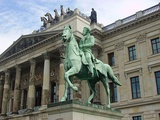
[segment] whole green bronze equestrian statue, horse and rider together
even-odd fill
[[[94,46],[94,36],[90,35],[90,28],[84,27],[83,37],[80,43],[74,37],[71,26],[65,26],[63,29],[62,40],[66,44],[66,54],[64,59],[64,79],[65,79],[65,91],[61,101],[67,99],[68,87],[71,87],[74,91],[78,91],[78,88],[73,85],[73,77],[77,77],[80,80],[87,80],[88,86],[92,91],[92,94],[88,98],[88,103],[96,94],[95,84],[99,81],[102,82],[106,94],[107,94],[107,107],[110,108],[110,90],[108,82],[111,80],[116,85],[121,86],[114,75],[112,68],[96,59],[92,54],[92,47]]]

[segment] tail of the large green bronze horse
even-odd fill
[[[107,76],[108,78],[115,83],[116,85],[121,86],[121,83],[119,82],[119,80],[117,79],[117,77],[114,75],[112,68],[108,65],[105,64],[106,68],[107,68]]]

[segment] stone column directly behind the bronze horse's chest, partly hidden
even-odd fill
[[[59,101],[61,100],[61,98],[63,97],[63,93],[64,93],[64,90],[65,90],[65,80],[64,80],[64,73],[65,73],[65,70],[64,70],[64,49],[63,48],[60,48],[60,64],[59,64]]]

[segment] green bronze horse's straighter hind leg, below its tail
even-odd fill
[[[110,89],[109,89],[109,85],[108,85],[108,82],[106,80],[106,78],[103,78],[101,80],[105,90],[106,90],[106,94],[107,94],[107,107],[110,108]]]

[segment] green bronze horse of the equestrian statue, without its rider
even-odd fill
[[[94,76],[90,76],[88,74],[87,65],[82,62],[84,54],[80,51],[70,26],[64,27],[62,40],[66,43],[66,54],[64,60],[64,79],[66,83],[64,95],[61,101],[65,101],[67,99],[68,87],[71,87],[74,91],[78,91],[78,88],[72,84],[73,77],[76,76],[80,80],[87,80],[88,82],[88,86],[92,91],[92,94],[88,98],[88,103],[91,103],[91,100],[96,94],[95,84],[101,81],[107,94],[107,107],[110,108],[110,90],[108,82],[111,80],[116,85],[121,86],[121,83],[115,77],[111,67],[96,59]]]

